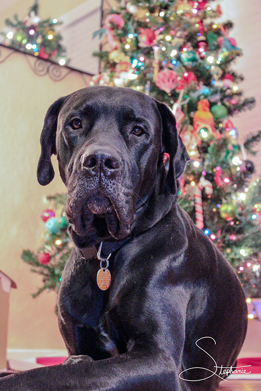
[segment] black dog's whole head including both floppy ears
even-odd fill
[[[53,179],[56,154],[68,188],[71,236],[79,247],[128,236],[137,204],[159,181],[175,195],[189,160],[166,105],[120,87],[87,87],[54,102],[41,147],[38,181],[47,185]],[[170,156],[167,173],[164,152]]]

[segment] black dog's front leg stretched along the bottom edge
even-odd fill
[[[99,361],[72,356],[65,364],[0,379],[0,391],[181,391],[179,370],[164,351],[132,351]]]

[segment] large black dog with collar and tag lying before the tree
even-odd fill
[[[188,154],[170,110],[129,88],[84,88],[48,109],[41,146],[38,180],[52,180],[57,154],[76,245],[59,292],[70,357],[4,377],[0,390],[216,390],[243,343],[246,304],[176,203]]]

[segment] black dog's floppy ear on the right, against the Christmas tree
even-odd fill
[[[156,101],[162,120],[162,144],[163,152],[169,154],[169,169],[166,176],[166,188],[170,194],[176,194],[176,181],[183,173],[190,156],[186,151],[177,131],[177,123],[174,115],[168,107]]]

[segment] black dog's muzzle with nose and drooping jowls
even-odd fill
[[[67,215],[73,230],[85,236],[94,228],[94,217],[104,217],[115,239],[129,234],[135,201],[125,162],[112,146],[91,144],[78,158],[78,169],[68,186]]]

